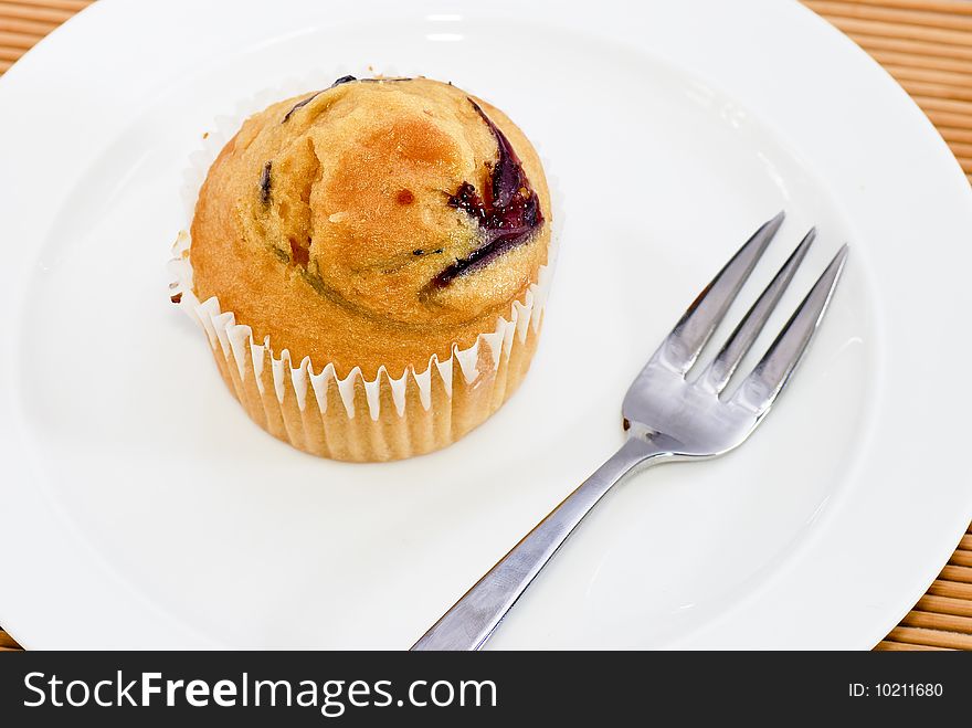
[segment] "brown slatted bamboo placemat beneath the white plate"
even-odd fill
[[[0,0],[0,74],[88,4],[91,0]],[[854,39],[898,80],[972,181],[972,2],[804,0],[804,4]],[[19,648],[0,630],[0,652]],[[972,526],[925,597],[875,648],[972,650]]]

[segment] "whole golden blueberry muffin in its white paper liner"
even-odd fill
[[[452,84],[345,76],[225,144],[173,298],[270,433],[337,460],[409,457],[522,380],[551,219],[537,152],[503,112]]]

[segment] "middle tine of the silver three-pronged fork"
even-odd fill
[[[721,392],[726,388],[742,357],[752,348],[760,331],[767,325],[767,320],[780,302],[780,296],[786,291],[815,238],[816,228],[811,228],[699,378],[702,387],[714,392]]]

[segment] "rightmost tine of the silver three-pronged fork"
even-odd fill
[[[770,345],[760,360],[740,384],[732,400],[758,413],[764,413],[786,387],[810,340],[823,320],[827,304],[834,295],[841,273],[847,261],[847,245],[841,247],[826,271],[806,294],[806,298]]]

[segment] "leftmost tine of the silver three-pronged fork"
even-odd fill
[[[656,357],[682,373],[687,372],[712,331],[726,316],[742,284],[783,223],[784,212],[764,222],[712,278],[662,344]]]

